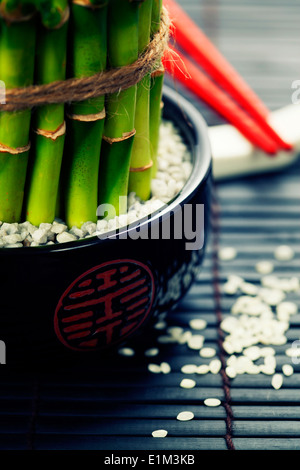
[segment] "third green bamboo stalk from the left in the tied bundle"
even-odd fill
[[[73,0],[70,18],[70,76],[106,68],[107,1]],[[104,127],[104,97],[73,103],[68,113],[62,191],[67,224],[96,221],[99,160]]]

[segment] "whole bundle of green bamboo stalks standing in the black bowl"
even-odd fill
[[[161,9],[162,0],[0,0],[0,80],[10,90],[133,64]],[[163,76],[158,63],[115,94],[20,111],[0,104],[0,220],[80,227],[100,204],[125,212],[129,192],[148,199]]]

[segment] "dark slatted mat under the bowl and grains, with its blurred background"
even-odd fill
[[[212,38],[271,109],[290,104],[291,82],[300,73],[300,5],[298,0],[181,0],[179,2]],[[171,83],[171,80],[168,80]],[[215,113],[181,90],[203,112],[209,124]],[[257,260],[273,260],[279,244],[296,257],[277,274],[300,276],[300,166],[282,174],[218,183],[214,230],[205,264],[180,307],[168,315],[168,326],[189,329],[189,320],[207,320],[205,345],[219,352],[218,321],[229,314],[232,299],[216,293],[230,274],[258,283]],[[216,247],[235,246],[237,258],[216,261]],[[299,294],[293,299],[300,307]],[[288,344],[299,339],[300,315],[293,317]],[[133,357],[110,355],[90,368],[22,379],[1,377],[0,449],[104,450],[283,450],[300,449],[300,366],[280,390],[271,377],[241,375],[224,389],[221,374],[188,376],[197,386],[180,388],[187,363],[207,363],[186,345],[160,344],[161,331],[130,344]],[[159,356],[144,350],[158,345]],[[277,346],[277,367],[288,362]],[[166,361],[170,374],[151,374],[149,362]],[[226,382],[227,383],[227,382]],[[227,399],[225,392],[227,393]],[[204,406],[205,398],[222,401]],[[231,401],[230,401],[231,400]],[[195,419],[179,422],[180,411]],[[151,432],[166,429],[165,439]],[[227,437],[226,437],[227,436]]]

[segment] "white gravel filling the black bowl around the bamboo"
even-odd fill
[[[45,246],[72,242],[126,227],[161,209],[184,187],[192,172],[191,154],[171,121],[163,121],[158,149],[158,171],[152,180],[151,199],[140,201],[134,193],[128,196],[128,212],[109,221],[87,221],[82,227],[68,228],[61,219],[52,224],[41,223],[39,227],[30,222],[6,223],[0,221],[0,248]]]

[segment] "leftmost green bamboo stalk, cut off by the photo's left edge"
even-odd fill
[[[33,84],[36,25],[34,11],[20,0],[0,3],[0,70],[6,89]],[[29,154],[30,110],[0,108],[0,220],[21,217]]]

